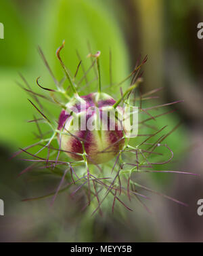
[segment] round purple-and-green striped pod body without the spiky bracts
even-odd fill
[[[81,153],[85,152],[89,163],[101,164],[122,150],[122,107],[114,108],[114,103],[114,98],[101,92],[76,96],[67,103],[58,122],[62,131],[58,141],[70,158],[83,160]]]

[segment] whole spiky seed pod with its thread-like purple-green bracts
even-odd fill
[[[131,201],[132,197],[136,198],[148,210],[145,204],[140,200],[140,198],[148,199],[148,196],[145,196],[142,191],[152,191],[154,193],[156,193],[156,191],[139,184],[139,182],[134,179],[135,177],[133,175],[137,175],[138,172],[177,172],[194,175],[191,172],[154,170],[154,166],[168,164],[168,162],[171,162],[173,159],[173,151],[166,143],[162,142],[175,131],[179,125],[175,126],[173,130],[166,134],[161,134],[166,126],[155,128],[154,131],[154,126],[148,125],[148,121],[156,120],[156,118],[167,115],[172,111],[156,115],[152,115],[150,111],[179,103],[181,100],[152,107],[143,107],[143,100],[151,100],[153,98],[151,94],[160,90],[155,89],[145,94],[139,92],[139,97],[134,93],[142,81],[139,71],[147,60],[147,56],[140,64],[139,61],[137,62],[135,69],[133,69],[130,75],[116,84],[118,88],[124,81],[132,77],[131,83],[125,92],[122,92],[122,88],[120,87],[121,96],[118,100],[115,100],[109,94],[101,92],[101,75],[99,68],[100,52],[89,54],[89,56],[94,59],[91,68],[95,63],[97,64],[98,90],[88,95],[80,95],[77,92],[75,81],[81,61],[78,64],[74,77],[71,77],[60,57],[62,48],[64,48],[64,43],[56,52],[66,75],[62,81],[55,79],[43,52],[39,48],[39,52],[56,86],[55,90],[45,88],[39,84],[39,78],[37,79],[37,85],[41,89],[48,91],[49,98],[47,95],[45,96],[33,92],[30,86],[28,86],[27,81],[22,77],[28,87],[24,88],[22,86],[22,88],[37,102],[38,106],[29,100],[41,117],[35,117],[34,120],[30,120],[30,122],[37,124],[39,130],[37,139],[39,139],[39,141],[24,149],[20,149],[20,151],[15,154],[15,156],[17,156],[24,152],[33,158],[24,159],[27,162],[33,163],[31,166],[22,170],[21,174],[40,165],[40,168],[47,170],[47,172],[51,171],[52,174],[57,174],[57,177],[62,176],[55,193],[41,197],[46,198],[47,196],[53,195],[51,202],[54,202],[59,192],[69,189],[70,185],[78,185],[71,195],[75,195],[77,191],[84,188],[85,194],[87,195],[87,204],[85,207],[91,202],[96,204],[93,213],[98,210],[99,213],[101,213],[101,204],[108,195],[112,196],[112,211],[114,211],[115,202],[119,202],[128,210],[133,211],[127,206],[125,196],[129,198],[129,201]],[[84,77],[85,75],[87,75],[87,71],[84,72]],[[68,88],[70,87],[72,90],[70,94],[67,93],[67,88],[64,88],[63,81],[65,80],[68,81]],[[59,117],[57,117],[58,122],[55,121],[53,116],[47,117],[49,111],[44,112],[39,98],[49,100],[49,102],[51,101],[51,103],[61,107]],[[61,100],[61,98],[63,98],[63,100]],[[136,107],[135,103],[137,101],[139,107]],[[40,129],[41,123],[45,123],[51,130],[43,134]],[[146,134],[142,133],[145,127],[152,128],[151,132],[147,132]],[[137,132],[140,130],[141,133],[139,133],[139,137],[137,137]],[[51,134],[51,136],[47,134]],[[157,136],[159,137],[157,138]],[[144,139],[141,141],[140,138],[143,137]],[[154,139],[154,141],[152,139]],[[55,141],[58,141],[58,147],[55,145]],[[37,152],[31,153],[29,151],[39,146],[41,146],[41,148],[38,149]],[[165,155],[163,151],[158,151],[158,149],[163,148],[168,151],[166,159],[164,160]],[[47,155],[39,156],[39,154],[43,153],[45,150],[47,150]],[[154,161],[153,156],[156,156],[156,159],[159,158],[159,160],[157,162]],[[68,181],[68,185],[61,188],[65,180]],[[101,192],[104,189],[106,189],[105,194]],[[141,193],[138,189],[141,190]],[[162,196],[185,205],[183,202],[165,196],[164,194],[162,194]]]

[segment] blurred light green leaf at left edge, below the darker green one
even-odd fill
[[[29,73],[26,70],[29,77]],[[0,100],[0,141],[11,147],[22,147],[32,143],[32,132],[35,125],[29,125],[26,120],[32,118],[33,109],[28,104],[28,96],[17,86],[20,80],[17,71],[4,69],[0,72],[1,100]],[[26,77],[26,78],[28,78]]]

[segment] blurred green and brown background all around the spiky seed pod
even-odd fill
[[[203,216],[197,214],[197,201],[203,198],[203,39],[197,37],[197,25],[203,22],[202,0],[0,0],[0,7],[5,28],[5,39],[0,40],[0,198],[5,202],[0,241],[202,242]],[[52,207],[49,200],[22,202],[53,191],[58,179],[35,172],[18,177],[26,164],[9,160],[18,147],[35,142],[35,125],[26,122],[35,111],[16,85],[21,81],[18,72],[33,88],[39,76],[43,86],[51,88],[53,81],[37,45],[61,79],[55,50],[63,39],[63,58],[72,73],[78,64],[76,50],[84,68],[89,65],[90,47],[93,52],[100,50],[102,83],[108,90],[110,49],[114,82],[133,69],[139,54],[148,54],[141,91],[163,88],[151,104],[184,100],[175,106],[175,113],[157,122],[173,128],[182,121],[167,140],[175,153],[169,168],[200,176],[154,174],[142,180],[188,207],[152,196],[148,202],[152,214],[131,202],[132,213],[90,217],[81,212],[80,198],[73,200],[68,193],[59,195]],[[85,88],[86,94],[95,90],[94,83]],[[49,111],[56,116],[60,113],[51,105]]]

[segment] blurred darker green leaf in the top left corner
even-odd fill
[[[4,39],[0,41],[0,67],[27,65],[30,38],[26,22],[14,1],[0,0],[0,6],[0,22],[4,25]]]

